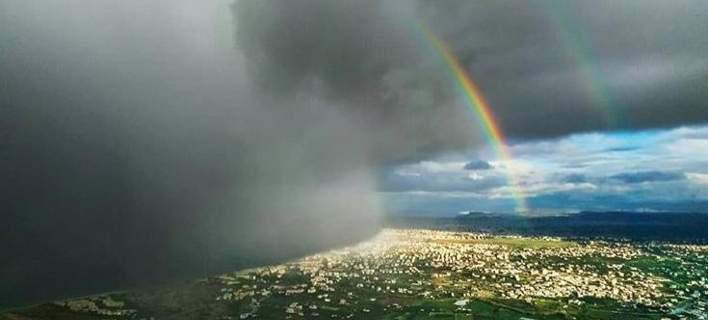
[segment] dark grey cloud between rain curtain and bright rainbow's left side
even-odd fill
[[[314,97],[340,110],[369,138],[377,162],[479,141],[466,111],[450,100],[445,70],[431,63],[416,34],[414,9],[412,2],[370,0],[233,6],[238,45],[263,94]]]

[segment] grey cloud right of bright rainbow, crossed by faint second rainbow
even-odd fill
[[[703,1],[430,1],[516,138],[708,120]]]

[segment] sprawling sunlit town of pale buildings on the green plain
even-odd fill
[[[657,250],[671,256],[657,255]],[[462,314],[473,314],[467,305],[477,300],[519,313],[525,308],[546,315],[593,311],[601,318],[603,312],[617,310],[650,316],[682,308],[686,316],[704,318],[707,251],[700,246],[581,244],[549,237],[389,229],[356,247],[224,275],[219,278],[224,294],[217,299],[252,301],[241,318],[257,316],[267,301],[263,298],[270,295],[292,297],[282,309],[286,318],[317,317],[325,313],[318,311],[322,309],[330,311],[328,318],[360,317],[377,308],[382,314],[400,313],[405,303],[415,305],[421,299],[448,301],[455,306],[453,313]],[[686,283],[672,281],[678,277]],[[297,278],[301,281],[293,281]],[[617,310],[607,309],[608,304]],[[339,309],[351,313],[334,312]],[[420,310],[435,314],[447,309]]]

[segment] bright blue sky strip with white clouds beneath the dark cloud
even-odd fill
[[[575,134],[511,151],[512,160],[481,148],[387,168],[380,188],[402,215],[708,210],[708,126]],[[509,174],[529,212],[516,212]]]

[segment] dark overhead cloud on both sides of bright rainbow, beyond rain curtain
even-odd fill
[[[450,115],[441,106],[459,102],[421,23],[460,57],[512,138],[708,121],[703,1],[267,0],[234,8],[251,73],[266,87],[315,87],[377,119],[395,115],[414,123],[432,151],[457,143],[430,137],[464,126],[447,118],[435,135],[414,116]]]

